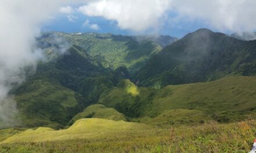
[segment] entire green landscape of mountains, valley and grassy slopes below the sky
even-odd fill
[[[201,29],[169,43],[43,34],[47,62],[33,75],[28,67],[27,81],[10,92],[20,128],[0,130],[0,152],[249,151],[255,41]]]

